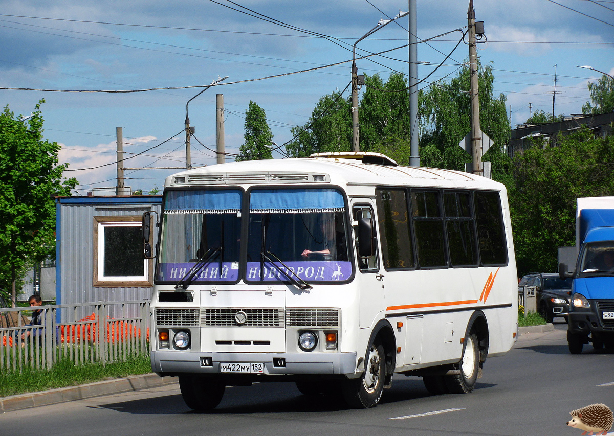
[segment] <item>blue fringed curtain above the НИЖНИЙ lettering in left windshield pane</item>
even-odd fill
[[[167,191],[165,212],[239,213],[241,212],[241,191],[236,189]]]

